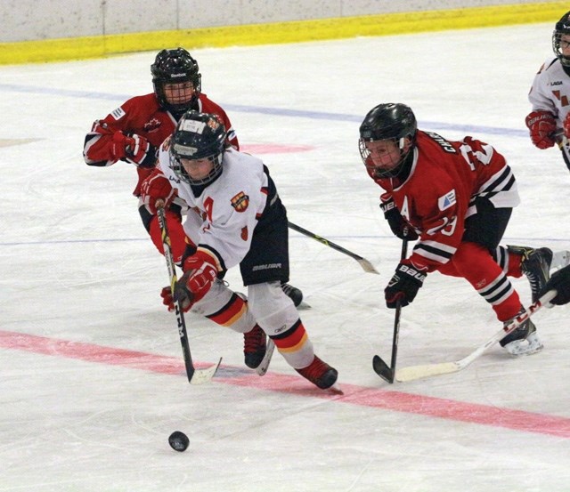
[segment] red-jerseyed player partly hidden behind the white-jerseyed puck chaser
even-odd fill
[[[183,48],[162,50],[151,65],[154,92],[136,96],[94,122],[85,136],[83,155],[87,165],[109,166],[119,160],[135,165],[138,180],[134,196],[139,198],[142,224],[152,242],[162,251],[159,222],[150,214],[141,196],[142,181],[156,165],[160,144],[172,134],[176,123],[188,109],[215,113],[228,128],[228,142],[240,148],[230,118],[216,102],[201,92],[201,75],[196,60]],[[175,262],[183,254],[185,234],[181,224],[181,204],[174,200],[167,210]]]

